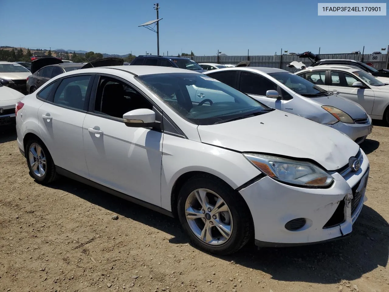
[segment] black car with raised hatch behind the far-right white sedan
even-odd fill
[[[311,53],[305,52],[298,55],[300,58],[309,58],[312,62],[314,62],[311,66],[319,66],[319,65],[349,65],[357,67],[361,70],[371,73],[375,77],[389,77],[388,69],[374,69],[373,67],[356,60],[338,60],[338,59],[321,59],[319,56]]]

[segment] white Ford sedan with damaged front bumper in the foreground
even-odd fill
[[[193,85],[228,100],[196,102]],[[62,174],[177,216],[208,252],[341,238],[366,200],[369,161],[346,135],[195,71],[75,70],[16,109],[35,181]]]

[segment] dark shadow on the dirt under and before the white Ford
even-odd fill
[[[172,244],[188,242],[176,219],[67,178],[61,178],[51,187],[171,234]],[[341,279],[358,279],[378,266],[385,267],[388,248],[388,223],[376,211],[364,206],[354,224],[352,235],[346,239],[318,245],[261,250],[250,243],[234,255],[219,258],[261,270],[272,275],[275,280],[337,283]]]

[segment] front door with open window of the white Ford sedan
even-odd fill
[[[152,105],[128,83],[105,76],[93,104],[82,127],[89,179],[161,206],[163,133],[123,122],[124,113]]]

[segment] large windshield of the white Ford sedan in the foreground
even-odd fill
[[[235,88],[203,74],[166,73],[135,78],[182,118],[196,125],[212,125],[271,110]]]

